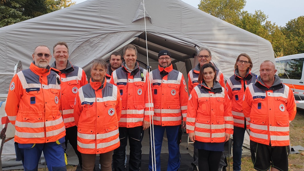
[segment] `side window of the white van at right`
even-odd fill
[[[275,61],[278,76],[281,79],[288,79],[287,75],[289,76],[289,79],[301,79],[303,62],[304,58]],[[286,71],[287,75],[284,70]]]

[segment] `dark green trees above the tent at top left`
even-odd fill
[[[0,0],[0,27],[75,5],[72,0]]]

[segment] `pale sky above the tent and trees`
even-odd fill
[[[76,3],[85,0],[73,0]],[[189,5],[198,8],[200,0],[182,0]],[[246,0],[246,6],[243,10],[254,13],[255,10],[261,10],[268,15],[268,21],[278,26],[285,26],[291,19],[304,16],[303,0]]]

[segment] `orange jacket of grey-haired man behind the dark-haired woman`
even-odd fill
[[[196,65],[191,71],[188,73],[188,91],[191,93],[192,89],[198,85],[199,79],[199,70],[201,69],[200,65]],[[224,75],[218,68],[215,67],[216,70],[216,81],[218,81],[222,87],[225,87]]]

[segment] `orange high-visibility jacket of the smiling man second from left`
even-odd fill
[[[60,111],[62,113],[64,125],[66,128],[75,126],[74,122],[74,99],[78,89],[88,84],[88,78],[85,71],[78,66],[73,66],[70,61],[67,61],[67,68],[60,72],[56,69],[56,61],[51,65],[52,70],[60,76],[61,89],[61,105]]]

